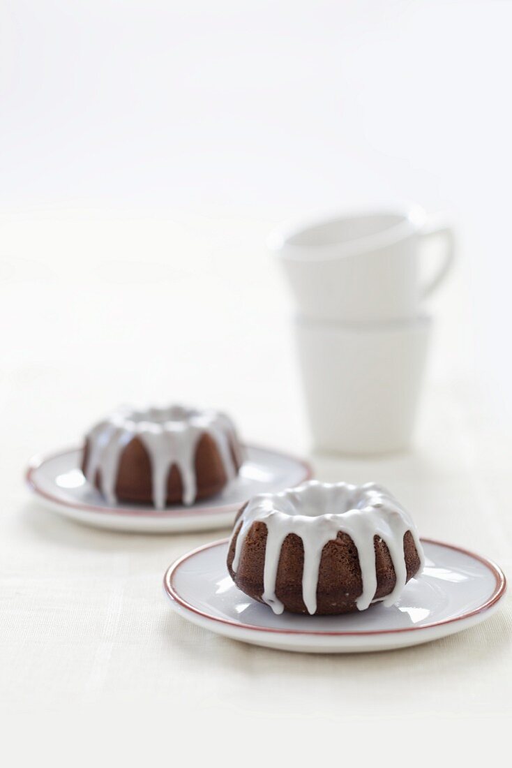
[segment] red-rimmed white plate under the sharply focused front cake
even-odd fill
[[[276,616],[239,591],[226,568],[227,539],[183,555],[164,577],[180,616],[234,640],[317,654],[361,653],[428,643],[480,624],[505,593],[500,568],[477,554],[422,539],[425,567],[395,605],[344,616]]]

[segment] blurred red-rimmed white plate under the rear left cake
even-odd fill
[[[161,511],[149,505],[108,505],[81,472],[81,449],[35,456],[26,479],[48,508],[87,525],[142,533],[208,531],[233,525],[234,513],[256,493],[281,491],[311,477],[306,462],[284,453],[247,445],[246,457],[238,477],[222,493],[191,507],[173,505]]]

